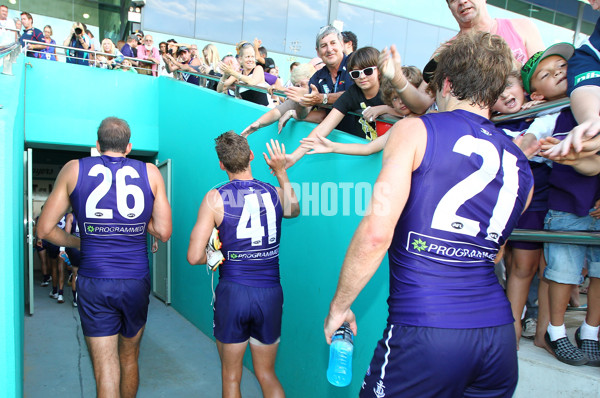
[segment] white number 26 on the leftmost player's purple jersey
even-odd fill
[[[106,166],[97,164],[88,173],[91,177],[102,174],[102,182],[88,196],[85,202],[85,216],[87,218],[113,218],[112,209],[98,208],[100,200],[106,196],[112,184],[112,172]],[[131,166],[125,166],[116,173],[117,211],[127,219],[134,219],[144,211],[144,192],[137,185],[127,185],[125,177],[140,178],[138,172]],[[127,205],[127,197],[133,196],[133,207]]]

